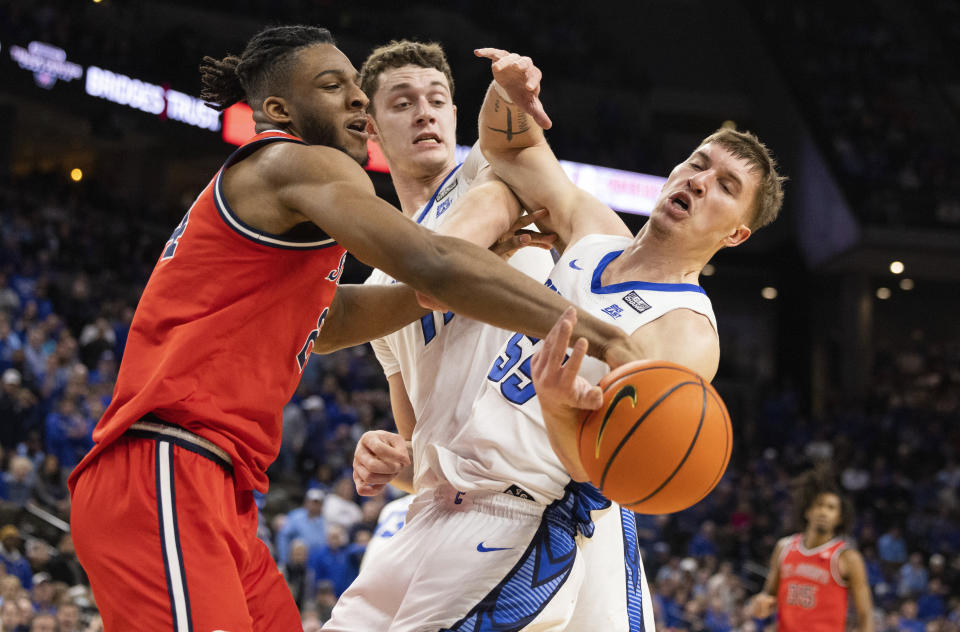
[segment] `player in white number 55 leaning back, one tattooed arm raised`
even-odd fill
[[[706,139],[671,173],[634,239],[609,208],[569,182],[530,121],[536,114],[549,124],[535,100],[538,71],[529,60],[487,53],[506,87],[488,92],[481,145],[525,204],[550,208],[553,229],[569,244],[548,286],[621,326],[645,357],[712,378],[715,320],[697,275],[719,248],[741,243],[776,214],[782,194],[765,148],[731,131]],[[613,513],[609,501],[571,481],[584,478],[569,450],[575,411],[599,405],[589,385],[608,369],[587,363],[571,379],[561,360],[572,325],[565,315],[547,360],[536,364],[542,411],[531,383],[539,341],[517,334],[492,362],[470,418],[450,440],[427,446],[421,467],[440,484],[420,491],[407,526],[345,593],[402,586],[403,603],[383,629],[652,631],[642,568],[629,555],[631,517],[620,514],[627,518],[620,532],[603,536],[607,521],[593,519]],[[578,340],[568,367],[583,362],[583,351]]]

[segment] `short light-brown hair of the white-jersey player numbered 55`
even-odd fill
[[[746,160],[751,171],[760,175],[760,186],[753,203],[750,230],[763,228],[780,214],[783,206],[783,183],[787,178],[777,173],[777,161],[767,146],[760,142],[755,134],[740,132],[722,127],[703,139],[700,146],[707,143],[720,145],[731,154]]]

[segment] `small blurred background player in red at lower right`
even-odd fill
[[[750,614],[765,619],[776,611],[779,632],[843,632],[851,592],[856,629],[873,632],[863,557],[842,536],[853,518],[850,502],[825,472],[811,471],[800,478],[796,507],[806,529],[777,544],[763,592],[748,606]]]

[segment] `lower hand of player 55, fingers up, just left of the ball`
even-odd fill
[[[596,410],[603,403],[600,387],[579,375],[580,365],[587,353],[587,339],[579,338],[573,352],[564,362],[570,334],[577,323],[577,310],[570,307],[543,339],[543,347],[533,356],[531,374],[541,406]]]

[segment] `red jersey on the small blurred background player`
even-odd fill
[[[843,632],[847,583],[840,576],[840,554],[848,548],[834,538],[815,549],[803,534],[790,536],[780,552],[777,617],[780,632]]]

